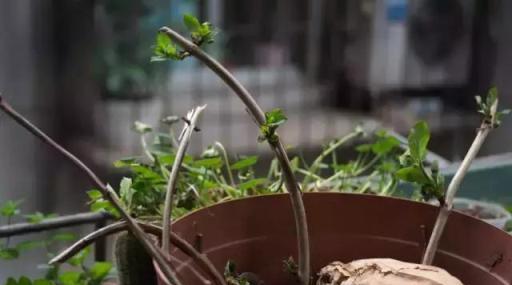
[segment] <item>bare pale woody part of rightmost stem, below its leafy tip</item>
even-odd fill
[[[425,254],[423,255],[421,261],[422,264],[432,264],[437,248],[439,246],[439,240],[443,235],[443,231],[448,221],[448,217],[450,216],[450,213],[453,208],[453,199],[455,198],[455,194],[459,190],[460,184],[464,179],[464,176],[466,176],[469,166],[471,165],[476,155],[478,154],[478,151],[482,147],[482,144],[484,143],[491,129],[491,125],[488,125],[486,123],[482,124],[482,126],[478,130],[475,140],[471,144],[471,147],[469,148],[466,156],[464,157],[464,160],[460,164],[459,169],[457,169],[457,172],[455,173],[453,179],[448,185],[448,190],[446,191],[444,203],[440,206],[439,214],[437,216],[434,229],[432,230],[432,234],[430,236],[427,249],[425,250]]]

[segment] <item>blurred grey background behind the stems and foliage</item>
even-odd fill
[[[474,96],[496,85],[512,106],[506,0],[6,0],[0,92],[110,180],[112,161],[141,151],[134,121],[158,126],[199,104],[208,108],[193,150],[220,141],[231,154],[268,156],[239,99],[204,66],[150,63],[158,28],[184,31],[184,13],[218,27],[208,51],[263,109],[284,109],[284,142],[306,154],[358,124],[406,134],[425,119],[431,149],[457,161],[479,124]],[[480,155],[511,142],[505,118]],[[0,201],[87,210],[83,175],[3,114],[0,158]]]

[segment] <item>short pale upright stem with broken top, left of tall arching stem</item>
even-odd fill
[[[163,231],[162,231],[162,251],[166,254],[169,254],[170,244],[169,244],[169,234],[171,232],[171,214],[174,203],[174,196],[176,194],[176,182],[178,181],[178,173],[183,163],[183,159],[185,158],[185,153],[187,151],[188,145],[190,143],[190,138],[192,137],[192,133],[196,127],[197,119],[201,112],[206,108],[206,105],[196,107],[193,110],[189,111],[187,114],[187,122],[183,128],[181,140],[179,142],[178,150],[176,151],[176,157],[174,158],[174,162],[171,168],[171,174],[169,174],[169,180],[167,182],[167,189],[165,195],[165,204],[164,204],[164,215],[163,215]]]

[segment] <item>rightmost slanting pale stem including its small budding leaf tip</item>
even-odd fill
[[[457,169],[457,172],[448,185],[444,201],[441,203],[439,209],[439,214],[437,216],[432,235],[430,236],[427,249],[423,255],[423,264],[430,265],[434,260],[437,248],[439,246],[439,240],[441,239],[444,227],[448,221],[448,216],[450,215],[450,212],[453,208],[453,199],[455,198],[455,194],[457,194],[457,190],[459,190],[460,184],[464,179],[469,166],[478,154],[478,151],[487,138],[489,132],[500,125],[500,117],[503,114],[509,113],[509,110],[498,111],[498,90],[495,87],[489,90],[485,101],[483,101],[480,96],[477,96],[476,99],[479,106],[478,112],[483,115],[482,124],[480,125],[477,135],[471,144],[471,147],[469,148],[466,156],[464,157],[464,160],[460,164],[459,169]]]

